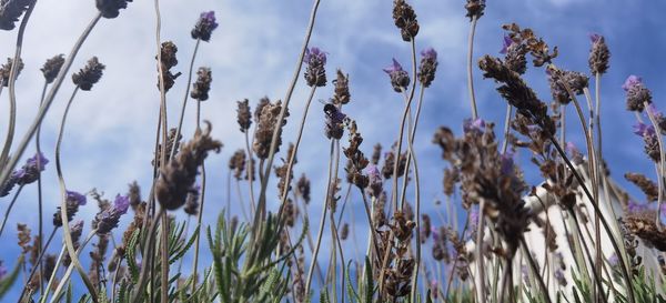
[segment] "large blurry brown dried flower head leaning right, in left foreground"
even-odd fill
[[[198,129],[194,138],[182,147],[180,152],[160,170],[160,179],[155,184],[155,196],[162,208],[173,211],[185,203],[192,190],[199,166],[209,151],[220,152],[222,143],[210,137],[211,124],[205,122],[205,130]]]

